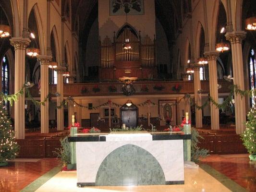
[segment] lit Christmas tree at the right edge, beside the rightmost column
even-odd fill
[[[241,134],[244,146],[250,154],[256,153],[256,105],[247,114],[246,129]],[[254,155],[255,156],[255,155]],[[251,158],[251,157],[250,157]]]

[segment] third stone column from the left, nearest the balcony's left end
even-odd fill
[[[61,105],[63,101],[63,73],[66,71],[66,67],[57,67],[55,68],[57,71],[57,93],[60,96],[57,96],[57,106]],[[63,107],[57,108],[57,130],[64,130],[64,118],[63,118]]]

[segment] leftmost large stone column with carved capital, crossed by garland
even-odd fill
[[[15,50],[14,63],[14,93],[18,92],[25,83],[25,49],[30,43],[29,38],[12,37],[11,45]],[[16,139],[25,139],[25,95],[18,96],[14,104],[14,130]]]

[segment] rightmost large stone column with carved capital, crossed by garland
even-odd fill
[[[244,31],[232,31],[226,33],[226,38],[231,42],[232,49],[232,66],[233,66],[233,81],[239,89],[244,90],[244,67],[243,67],[243,53],[242,40],[245,38]],[[234,96],[235,100],[235,127],[236,133],[244,132],[246,121],[245,98],[239,95]]]

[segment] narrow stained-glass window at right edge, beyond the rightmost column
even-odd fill
[[[250,89],[253,90],[256,88],[256,60],[255,60],[255,51],[254,49],[250,49],[249,53],[249,81],[250,81]],[[251,105],[255,105],[254,99],[251,98]]]

